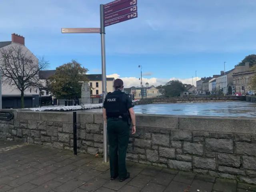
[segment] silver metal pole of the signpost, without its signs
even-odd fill
[[[101,64],[102,64],[102,104],[107,92],[106,79],[106,49],[105,49],[105,26],[104,26],[104,4],[100,4],[100,38],[101,38]],[[103,160],[108,162],[108,142],[107,142],[107,128],[106,122],[103,118]]]

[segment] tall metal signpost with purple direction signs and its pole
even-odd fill
[[[102,103],[104,103],[106,85],[106,49],[105,49],[105,27],[124,22],[138,17],[138,0],[115,0],[108,4],[100,4],[100,28],[62,28],[62,33],[100,33],[101,38],[101,62],[102,62]],[[104,162],[108,162],[107,129],[103,119],[103,149]]]

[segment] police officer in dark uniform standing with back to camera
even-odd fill
[[[109,92],[104,100],[103,116],[107,122],[110,180],[119,177],[119,181],[122,182],[130,178],[130,173],[126,169],[126,151],[130,137],[130,125],[132,124],[132,134],[135,134],[136,124],[134,104],[122,91],[124,82],[116,79],[114,88],[115,91]]]

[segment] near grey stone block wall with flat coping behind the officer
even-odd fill
[[[0,139],[72,150],[72,113],[13,111]],[[78,151],[103,152],[102,114],[77,114]],[[256,120],[136,115],[127,160],[256,184]]]

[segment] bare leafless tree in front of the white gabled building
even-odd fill
[[[24,92],[42,86],[39,71],[47,69],[49,63],[44,58],[38,60],[31,52],[25,51],[23,46],[10,46],[0,49],[0,66],[2,82],[13,90],[20,90],[21,107],[24,108]]]

